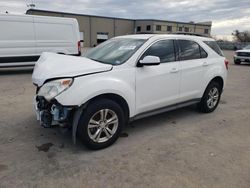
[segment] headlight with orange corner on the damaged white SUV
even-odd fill
[[[53,80],[44,84],[38,91],[38,96],[43,96],[46,100],[50,101],[57,95],[68,89],[73,83],[72,78]]]

